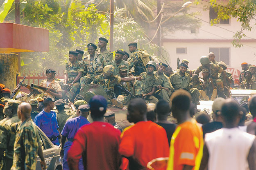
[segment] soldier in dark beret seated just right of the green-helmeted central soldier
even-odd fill
[[[171,82],[167,76],[165,76],[165,68],[167,68],[168,65],[165,63],[160,62],[158,66],[158,70],[155,73],[155,76],[159,79],[159,85],[156,86],[156,92],[154,93],[154,96],[158,99],[163,99],[165,101],[168,101],[170,103],[170,98],[173,87],[171,85]]]

